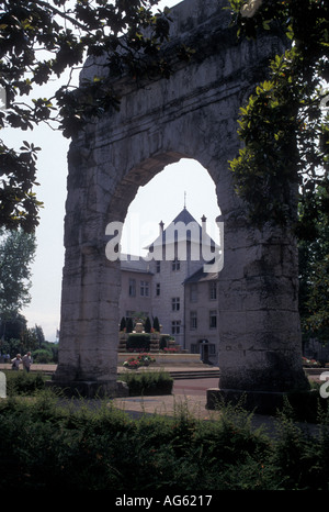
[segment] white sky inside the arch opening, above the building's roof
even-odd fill
[[[183,208],[200,223],[205,215],[208,233],[219,244],[216,218],[220,215],[220,209],[215,183],[197,160],[182,158],[163,166],[162,170],[139,186],[126,212],[122,252],[146,256],[145,247],[158,236],[159,223],[170,224]]]

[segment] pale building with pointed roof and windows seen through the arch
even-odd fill
[[[146,247],[147,257],[126,256],[121,261],[121,318],[158,318],[162,333],[170,334],[190,353],[217,364],[217,278],[204,271],[218,246],[184,208]]]

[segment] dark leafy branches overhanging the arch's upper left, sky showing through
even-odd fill
[[[109,81],[129,74],[168,76],[161,43],[169,33],[169,11],[154,13],[158,0],[0,0],[0,90],[5,102],[0,129],[32,130],[54,123],[72,137],[87,121],[118,108]],[[87,57],[102,56],[103,73],[75,87],[71,73]],[[67,71],[50,98],[33,98],[38,86]],[[60,84],[60,82],[59,82]],[[42,207],[34,187],[38,147],[20,151],[0,141],[0,226],[33,232]]]

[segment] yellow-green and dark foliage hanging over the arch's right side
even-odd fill
[[[257,225],[294,225],[314,237],[329,211],[329,4],[326,0],[229,0],[240,37],[277,30],[291,42],[271,62],[268,79],[241,108],[243,143],[230,163],[236,189]],[[328,102],[328,104],[327,104]],[[302,214],[296,218],[296,191]]]

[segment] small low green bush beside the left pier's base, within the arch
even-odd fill
[[[131,397],[171,394],[173,386],[173,378],[162,370],[123,374],[120,379],[128,385]]]

